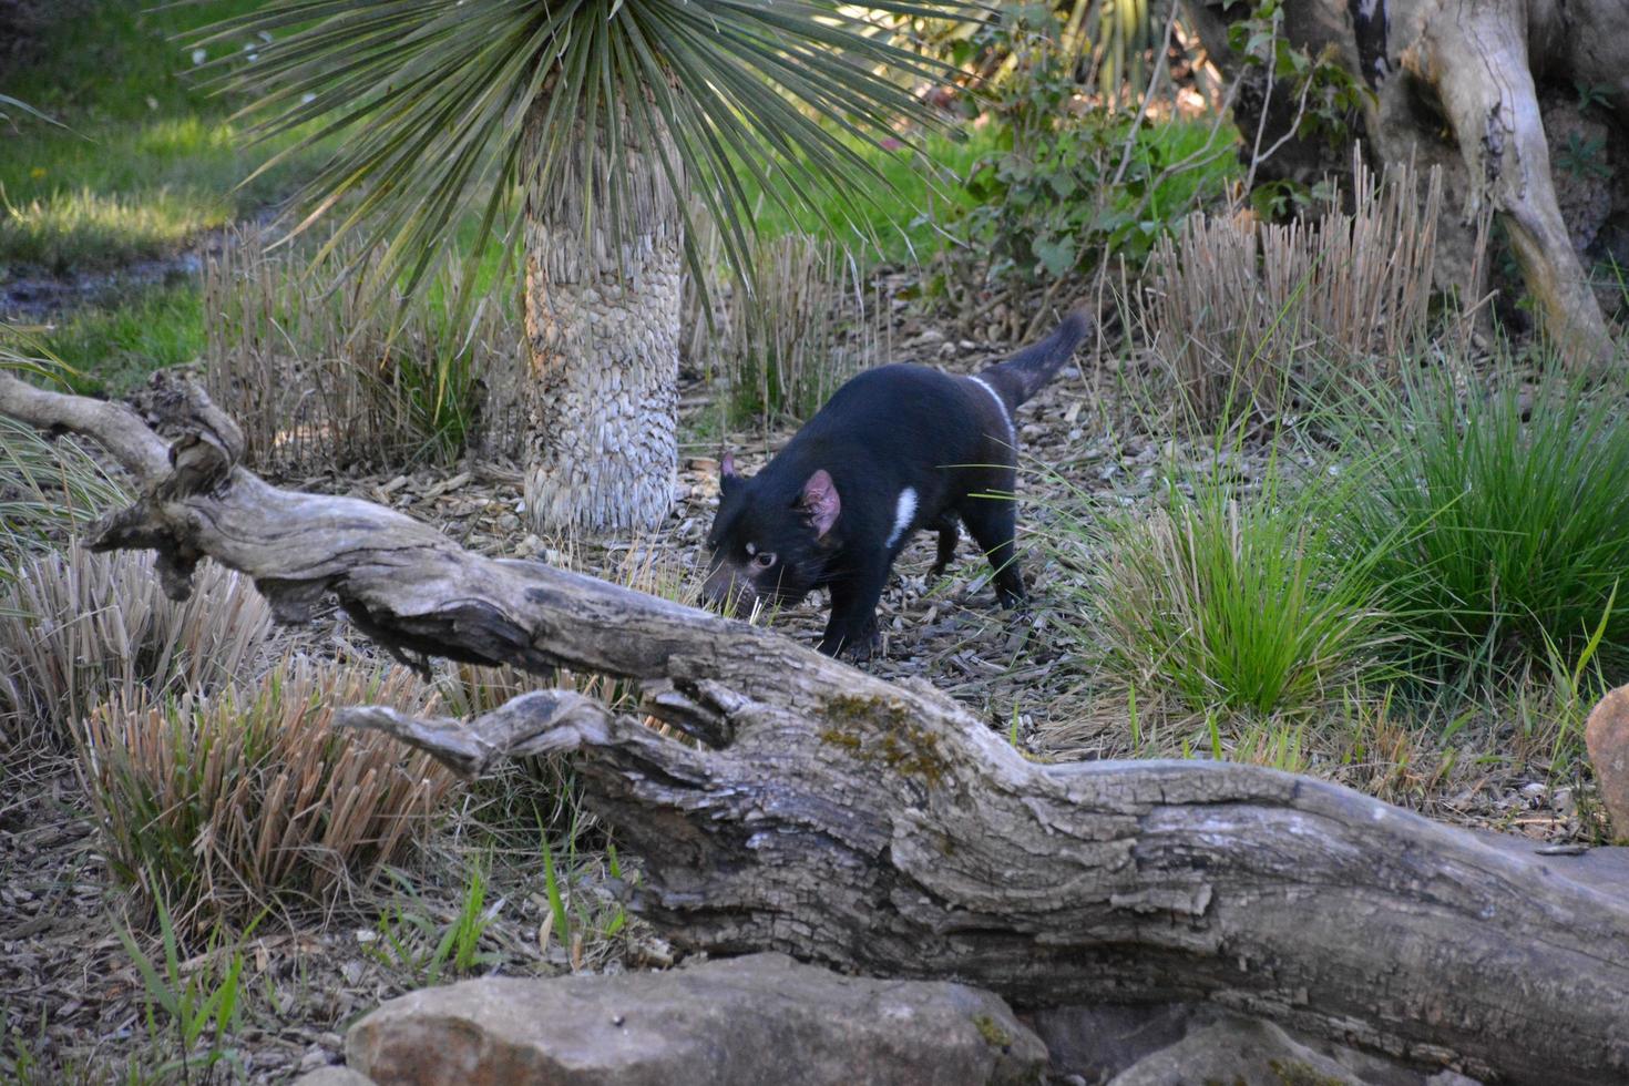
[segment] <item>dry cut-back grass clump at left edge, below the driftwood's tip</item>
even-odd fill
[[[23,562],[0,585],[0,746],[65,744],[99,702],[207,692],[259,668],[270,607],[236,573],[197,568],[173,602],[151,554],[73,544]]]

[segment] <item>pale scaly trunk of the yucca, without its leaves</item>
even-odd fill
[[[534,127],[546,109],[533,107]],[[544,147],[536,130],[528,138]],[[570,147],[570,161],[526,192],[526,508],[546,531],[650,531],[678,467],[683,220],[655,148],[629,140],[617,231],[611,156],[601,145],[590,163],[583,142]],[[585,176],[599,208],[588,221]]]

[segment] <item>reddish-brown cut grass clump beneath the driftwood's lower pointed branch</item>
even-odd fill
[[[114,874],[199,930],[331,907],[399,860],[453,778],[389,736],[336,731],[352,703],[424,713],[435,697],[402,668],[305,659],[213,695],[116,692],[80,744]]]

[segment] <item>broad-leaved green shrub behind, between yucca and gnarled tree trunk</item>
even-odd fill
[[[979,101],[994,147],[946,223],[948,274],[971,287],[1049,282],[1113,256],[1140,264],[1236,169],[1232,129],[1083,109],[1075,55],[1044,8],[1033,18],[1028,7],[1005,10],[981,31],[1015,65]]]

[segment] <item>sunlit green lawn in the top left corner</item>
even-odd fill
[[[252,0],[142,7],[81,0],[49,31],[39,62],[0,85],[60,122],[16,114],[3,137],[0,277],[8,265],[64,274],[173,252],[314,168],[319,151],[236,187],[274,148],[246,148],[228,120],[238,103],[199,86],[199,62],[226,49],[195,55],[187,36]]]

